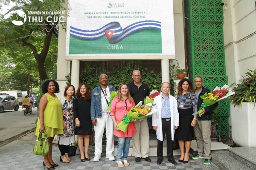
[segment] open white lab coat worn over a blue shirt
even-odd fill
[[[171,111],[171,132],[172,141],[174,139],[175,129],[174,126],[179,126],[179,113],[177,108],[177,100],[169,94],[170,111]],[[152,125],[157,126],[157,139],[163,141],[162,131],[162,93],[154,98],[154,108],[157,109],[156,113],[152,114]]]

